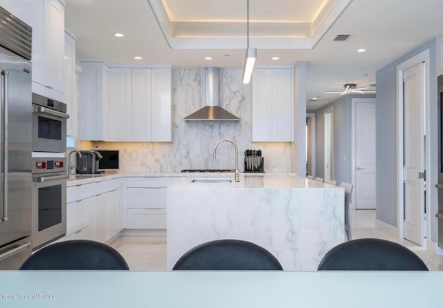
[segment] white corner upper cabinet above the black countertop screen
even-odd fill
[[[109,140],[109,67],[81,62],[80,140]]]

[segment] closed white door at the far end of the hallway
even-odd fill
[[[355,207],[375,209],[375,102],[355,106]]]

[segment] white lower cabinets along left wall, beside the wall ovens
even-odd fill
[[[66,237],[63,240],[108,242],[125,228],[123,179],[67,189]]]

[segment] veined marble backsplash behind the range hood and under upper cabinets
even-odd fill
[[[219,105],[239,122],[184,122],[183,117],[204,106],[205,69],[172,70],[172,142],[80,142],[81,149],[119,149],[122,172],[179,172],[182,169],[233,169],[233,145],[239,148],[239,169],[244,170],[244,150],[261,149],[265,172],[291,171],[289,142],[251,142],[251,85],[242,84],[242,70],[219,70]]]

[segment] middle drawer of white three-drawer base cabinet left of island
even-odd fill
[[[134,188],[126,191],[126,207],[129,208],[165,208],[166,189]]]

